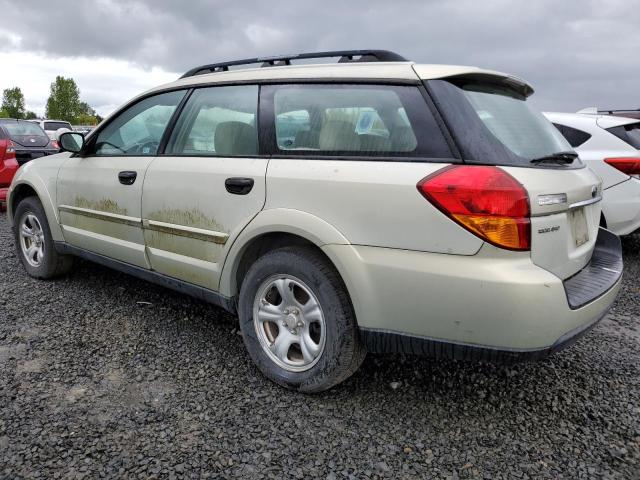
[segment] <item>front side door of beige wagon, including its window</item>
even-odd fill
[[[70,245],[149,268],[142,233],[142,185],[184,91],[136,102],[88,139],[87,154],[58,173],[57,203]]]

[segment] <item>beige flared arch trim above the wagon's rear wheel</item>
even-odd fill
[[[220,275],[219,291],[236,295],[236,272],[245,249],[253,240],[268,233],[289,233],[302,237],[322,248],[324,245],[348,245],[350,242],[333,225],[301,210],[273,208],[262,210],[236,237],[228,250]]]

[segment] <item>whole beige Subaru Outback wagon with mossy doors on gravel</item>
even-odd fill
[[[197,67],[20,169],[19,256],[237,313],[259,369],[305,392],[367,351],[542,358],[607,312],[622,257],[600,180],[532,93],[381,50]]]

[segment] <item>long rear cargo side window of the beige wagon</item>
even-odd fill
[[[273,98],[280,153],[451,157],[416,87],[265,86],[263,96]]]

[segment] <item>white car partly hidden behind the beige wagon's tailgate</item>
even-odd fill
[[[602,178],[602,226],[618,235],[640,233],[640,120],[597,109],[545,115]]]

